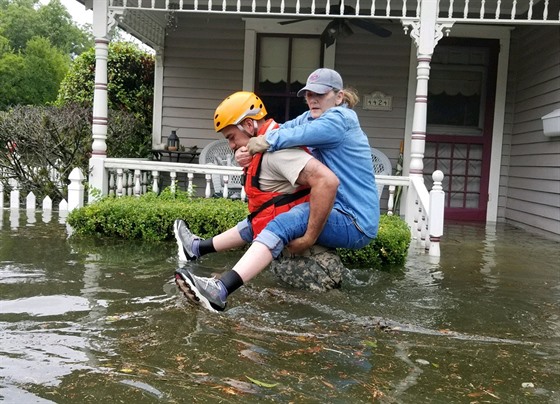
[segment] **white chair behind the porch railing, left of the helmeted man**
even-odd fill
[[[239,167],[237,161],[235,161],[233,151],[229,148],[228,141],[226,139],[215,140],[204,147],[200,151],[198,162],[200,164]],[[212,175],[212,186],[214,187],[215,194],[222,195],[224,189],[223,175]],[[240,198],[242,188],[243,185],[241,185],[241,176],[231,175],[228,182],[229,197]]]

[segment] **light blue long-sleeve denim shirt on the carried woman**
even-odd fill
[[[345,106],[313,119],[309,111],[266,135],[268,151],[308,146],[338,177],[334,208],[350,215],[368,237],[377,235],[379,198],[368,138],[356,113]]]

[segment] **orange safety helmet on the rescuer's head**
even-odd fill
[[[221,131],[228,125],[237,125],[245,118],[255,120],[266,116],[264,103],[255,93],[238,91],[222,101],[214,113],[214,129]]]

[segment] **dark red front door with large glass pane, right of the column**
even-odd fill
[[[496,93],[497,40],[444,38],[428,82],[424,178],[443,171],[445,218],[485,221]]]

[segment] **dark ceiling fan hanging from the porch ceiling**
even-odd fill
[[[330,8],[329,14],[332,15],[329,15],[328,17],[333,19],[327,24],[327,26],[321,33],[321,42],[324,43],[327,48],[331,46],[338,38],[352,35],[354,31],[352,31],[351,25],[362,28],[382,38],[387,38],[392,34],[392,32],[388,29],[375,24],[369,19],[344,18],[345,15],[356,15],[356,10],[352,6],[344,6],[342,14],[340,13],[340,4],[332,6]],[[337,16],[337,14],[340,15],[340,17]],[[323,18],[326,18],[326,16]],[[311,19],[312,18],[299,18],[297,20],[281,21],[279,22],[279,24],[287,25]]]

